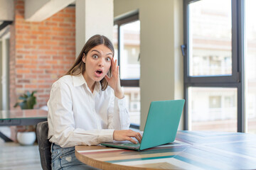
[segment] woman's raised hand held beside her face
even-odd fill
[[[119,66],[117,66],[117,60],[114,60],[112,58],[111,60],[111,74],[112,77],[105,76],[105,79],[107,80],[107,83],[110,85],[110,87],[114,90],[114,96],[117,98],[123,98],[124,92],[122,91],[121,85],[120,85],[120,79],[119,79]]]

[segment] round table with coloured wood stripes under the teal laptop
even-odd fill
[[[99,169],[256,169],[256,135],[238,132],[177,132],[176,140],[141,152],[76,146],[75,156]]]

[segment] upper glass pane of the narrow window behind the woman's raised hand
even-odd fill
[[[140,22],[120,26],[120,77],[139,79]]]

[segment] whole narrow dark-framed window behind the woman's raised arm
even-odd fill
[[[114,21],[114,50],[120,69],[121,86],[127,99],[131,127],[140,124],[140,22],[139,14],[133,13]]]

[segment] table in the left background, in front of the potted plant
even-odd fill
[[[0,126],[37,125],[47,120],[47,113],[47,111],[41,109],[0,111]],[[0,137],[6,142],[11,141],[2,132],[0,132]]]

